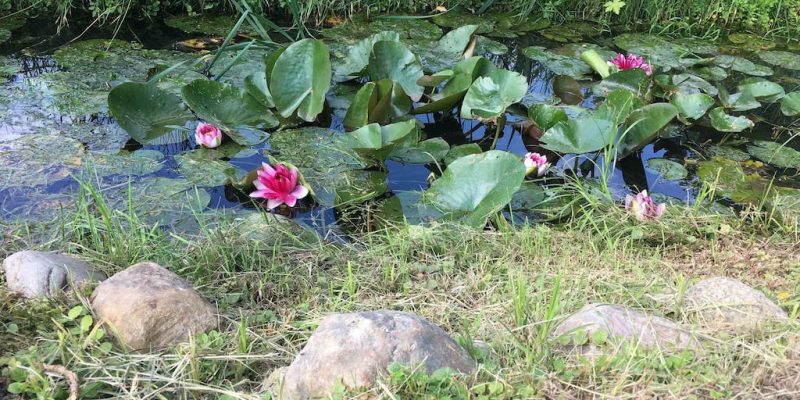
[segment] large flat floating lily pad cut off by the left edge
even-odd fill
[[[82,166],[83,145],[57,135],[26,135],[0,143],[0,187],[47,185]]]

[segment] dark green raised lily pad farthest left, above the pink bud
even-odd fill
[[[117,123],[139,143],[153,143],[190,118],[178,96],[155,85],[128,82],[108,94],[108,108]]]

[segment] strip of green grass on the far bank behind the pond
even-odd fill
[[[435,13],[437,6],[464,7],[473,12],[511,12],[541,15],[553,22],[596,20],[607,24],[636,26],[640,29],[669,32],[708,33],[718,29],[749,30],[792,37],[800,26],[800,0],[629,0],[619,14],[606,10],[608,0],[282,0],[251,2],[267,16],[300,19],[309,24],[325,17],[352,13]],[[121,18],[158,18],[165,14],[231,13],[236,8],[227,1],[206,0],[0,0],[0,13],[21,12],[49,15],[68,23],[71,15],[89,13],[102,21]],[[296,16],[293,18],[292,16]]]

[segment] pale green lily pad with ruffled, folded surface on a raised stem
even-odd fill
[[[511,104],[522,100],[528,81],[517,72],[498,69],[480,77],[467,90],[461,103],[462,118],[497,118]]]

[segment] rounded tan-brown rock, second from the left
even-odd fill
[[[132,349],[177,344],[217,324],[214,306],[152,262],[114,274],[97,286],[91,300],[98,319]]]

